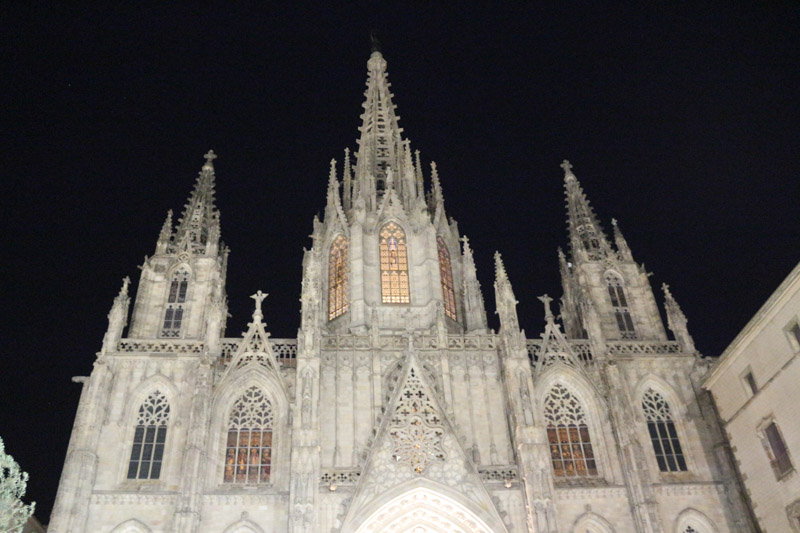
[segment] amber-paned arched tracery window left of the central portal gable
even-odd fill
[[[272,466],[272,404],[258,387],[236,401],[228,418],[225,483],[267,483]]]

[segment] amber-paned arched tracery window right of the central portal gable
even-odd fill
[[[561,383],[553,385],[545,398],[544,418],[556,477],[596,476],[597,462],[583,407]]]

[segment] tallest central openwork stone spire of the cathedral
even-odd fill
[[[362,181],[367,176],[375,180],[378,196],[386,188],[386,172],[388,167],[402,171],[403,140],[402,128],[398,125],[400,117],[395,115],[392,103],[390,83],[386,74],[386,60],[374,50],[367,61],[367,90],[364,92],[364,113],[359,128],[361,138],[358,140],[358,164],[356,180]],[[402,175],[402,173],[400,174]],[[360,187],[362,191],[365,188]]]

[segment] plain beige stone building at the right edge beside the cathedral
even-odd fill
[[[703,384],[713,394],[762,531],[800,532],[798,383],[800,264]]]

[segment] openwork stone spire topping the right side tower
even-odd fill
[[[572,246],[573,260],[578,260],[582,254],[587,259],[600,259],[611,254],[611,247],[603,234],[603,229],[594,214],[589,200],[581,188],[572,165],[564,160],[561,163],[564,169],[564,189],[567,197],[567,224]],[[576,249],[577,248],[577,249]]]

